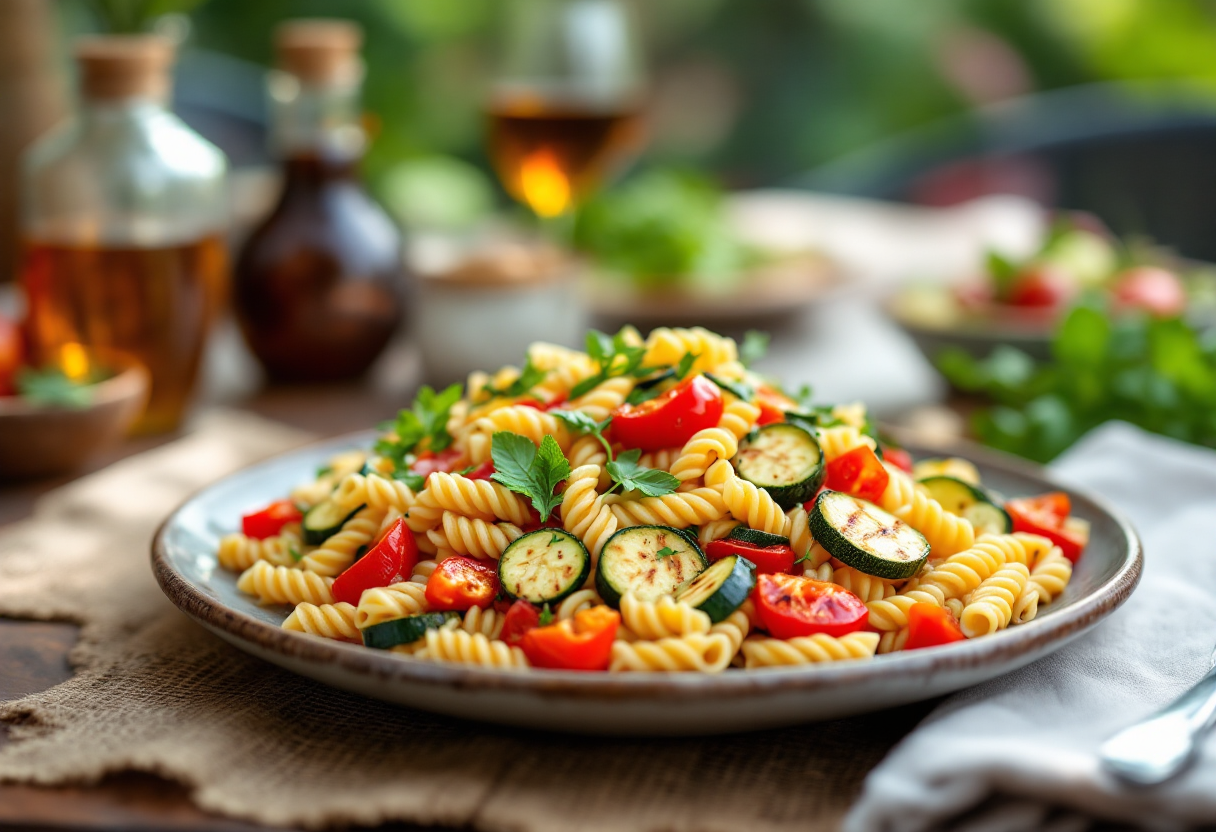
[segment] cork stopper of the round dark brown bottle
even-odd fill
[[[350,21],[295,19],[275,30],[280,68],[310,86],[358,84],[362,74],[359,58],[362,43],[362,29]]]

